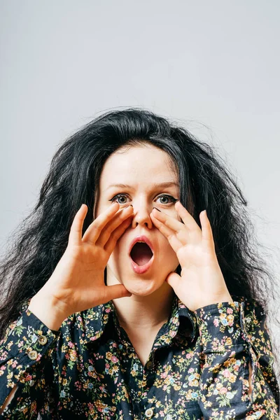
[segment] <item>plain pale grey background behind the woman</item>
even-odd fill
[[[139,106],[226,159],[279,284],[279,12],[276,0],[1,0],[1,252],[59,144]]]

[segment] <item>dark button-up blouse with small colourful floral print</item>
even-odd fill
[[[28,308],[0,342],[0,419],[279,419],[265,313],[255,301],[172,311],[142,365],[112,301],[50,330]],[[249,362],[252,365],[252,395]]]

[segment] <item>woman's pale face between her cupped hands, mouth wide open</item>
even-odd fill
[[[173,167],[172,167],[173,166]],[[173,183],[160,186],[160,183]],[[116,186],[125,184],[126,186]],[[132,223],[118,239],[107,263],[107,285],[122,283],[133,295],[149,295],[161,286],[176,270],[179,260],[168,239],[153,225],[153,207],[181,220],[174,208],[179,200],[178,175],[169,155],[150,145],[119,149],[106,160],[99,183],[94,216],[105,211],[113,201],[120,209],[132,204]],[[133,239],[145,235],[153,245],[150,267],[139,274],[132,267],[130,245]],[[169,286],[169,285],[167,285]]]

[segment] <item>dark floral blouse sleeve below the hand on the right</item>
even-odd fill
[[[204,419],[279,420],[279,386],[260,305],[244,299],[209,304],[194,312],[202,342],[200,408]]]

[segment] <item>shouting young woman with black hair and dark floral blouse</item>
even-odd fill
[[[244,206],[211,148],[150,111],[65,141],[1,266],[0,418],[278,419]]]

